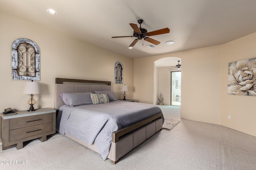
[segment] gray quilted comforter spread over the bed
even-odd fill
[[[105,160],[109,154],[112,132],[152,115],[161,113],[158,106],[136,102],[114,101],[106,104],[62,106],[56,120],[56,131],[93,143]]]

